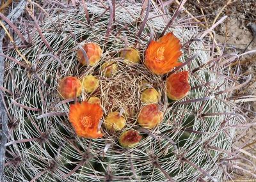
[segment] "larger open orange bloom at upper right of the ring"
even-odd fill
[[[178,62],[182,54],[180,48],[180,40],[173,33],[165,34],[158,41],[152,40],[145,52],[145,65],[157,75],[168,73],[181,64]]]

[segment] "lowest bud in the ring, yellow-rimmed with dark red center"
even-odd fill
[[[141,135],[135,130],[128,130],[123,132],[119,137],[119,143],[124,148],[133,148],[136,146],[140,140]]]

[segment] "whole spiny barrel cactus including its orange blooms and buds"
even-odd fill
[[[38,6],[30,4],[33,15],[28,5],[29,18],[19,29],[30,44],[22,47],[17,38],[22,56],[12,44],[4,52],[9,118],[4,179],[224,179],[223,161],[235,135],[229,126],[243,119],[227,100],[237,82],[228,66],[236,56],[221,54],[224,48],[211,41],[211,31],[194,19],[177,16],[181,7],[172,13],[154,1],[55,5],[60,8],[38,9],[42,22],[34,16]],[[149,50],[152,42],[156,47]],[[166,50],[157,49],[157,42],[166,43]],[[155,54],[159,57],[151,60]],[[154,61],[159,65],[161,56],[177,62],[158,68]],[[188,85],[175,78],[168,84],[175,74]],[[175,82],[179,88],[173,88]],[[97,126],[88,123],[90,117]]]

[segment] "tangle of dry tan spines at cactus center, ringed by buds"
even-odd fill
[[[122,59],[116,60],[118,71],[112,77],[100,77],[100,99],[108,112],[123,110],[129,121],[135,124],[136,116],[142,105],[141,86],[143,80],[147,80],[150,86],[156,85],[155,87],[161,93],[163,92],[164,96],[165,92],[164,87],[157,81],[161,79],[160,77],[150,75],[148,70],[139,64],[126,64],[124,62],[125,60]],[[162,104],[165,105],[166,102],[162,102]]]

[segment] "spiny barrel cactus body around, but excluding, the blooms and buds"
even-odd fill
[[[120,57],[120,50],[135,47],[143,62],[148,43],[159,38],[173,15],[153,1],[147,8],[145,4],[141,8],[141,3],[129,1],[104,6],[86,3],[86,11],[48,10],[50,16],[40,22],[40,31],[31,29],[32,45],[20,48],[30,65],[15,50],[5,52],[16,60],[6,58],[4,80],[12,124],[6,181],[220,181],[225,170],[220,160],[227,157],[225,151],[230,150],[234,137],[228,125],[243,119],[233,117],[234,108],[226,100],[234,82],[228,79],[227,65],[234,57],[214,53],[216,45],[207,37],[200,38],[204,32],[193,26],[193,19],[175,20],[166,33],[173,32],[180,39],[180,62],[184,64],[173,73],[188,70],[191,91],[186,98],[170,102],[166,75],[156,75],[143,63],[126,63]],[[22,34],[28,38],[26,31]],[[100,45],[103,54],[93,66],[82,66],[76,52],[88,42]],[[17,45],[22,42],[17,40]],[[104,76],[104,63],[117,65],[113,76]],[[67,117],[74,100],[61,100],[58,81],[90,74],[100,80],[99,87],[92,93],[83,90],[78,101],[98,96],[104,117],[123,110],[124,130],[137,130],[143,137],[134,148],[118,144],[120,131],[102,127],[106,133],[102,139],[84,139],[74,132]],[[152,130],[136,122],[145,105],[141,103],[144,81],[159,92],[164,113],[163,121]]]

